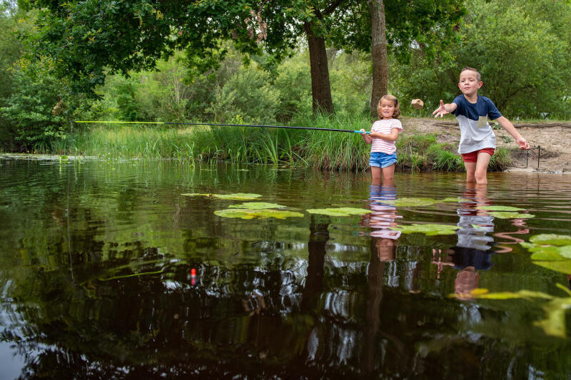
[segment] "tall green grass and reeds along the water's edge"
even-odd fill
[[[370,129],[368,115],[300,116],[291,125],[345,130]],[[145,124],[93,124],[46,151],[99,158],[175,159],[232,163],[303,165],[322,170],[368,170],[370,145],[357,133],[233,126],[178,128]],[[397,140],[397,170],[463,171],[456,147],[436,134],[403,134]],[[509,152],[497,149],[490,171],[509,165]]]

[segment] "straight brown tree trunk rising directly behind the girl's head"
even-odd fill
[[[373,91],[370,113],[378,117],[377,104],[388,91],[387,36],[383,0],[369,0],[371,21],[371,56],[373,58]]]

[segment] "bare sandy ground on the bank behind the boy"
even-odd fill
[[[460,129],[455,120],[405,118],[403,133],[438,133],[439,143],[458,148]],[[540,171],[571,174],[571,123],[518,124],[515,128],[530,142],[530,150],[519,150],[503,128],[495,129],[496,145],[511,152],[512,165],[506,171]],[[539,158],[539,169],[537,166]]]

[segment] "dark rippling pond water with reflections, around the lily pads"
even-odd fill
[[[519,242],[571,235],[571,176],[488,179],[398,173],[371,188],[264,166],[0,160],[0,379],[568,378],[568,312],[556,337],[542,299],[466,294],[569,297]],[[218,217],[243,201],[188,192],[258,193],[303,217]],[[386,202],[404,197],[461,199]],[[324,207],[372,213],[306,212]],[[388,230],[428,222],[462,229]]]

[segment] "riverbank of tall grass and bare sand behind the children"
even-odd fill
[[[458,155],[460,129],[452,118],[401,118],[397,140],[398,171],[463,172]],[[367,118],[308,118],[294,125],[358,130],[370,128]],[[512,137],[497,125],[497,150],[489,171],[571,173],[571,123],[515,124],[530,142],[519,150]],[[103,158],[179,160],[181,163],[229,161],[320,170],[369,170],[370,145],[358,134],[273,128],[166,128],[155,125],[90,125],[66,140],[37,153],[44,159]],[[34,152],[36,153],[36,152]],[[49,156],[51,155],[51,156]],[[17,155],[38,158],[39,155]]]

